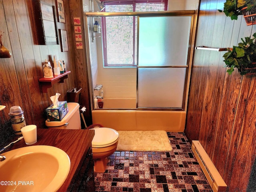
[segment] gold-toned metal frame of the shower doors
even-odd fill
[[[192,55],[193,49],[192,48],[192,39],[195,36],[195,27],[197,22],[196,17],[197,11],[196,10],[179,10],[179,11],[159,11],[159,12],[84,12],[84,22],[85,22],[85,31],[86,34],[88,33],[88,17],[108,17],[108,16],[137,16],[138,17],[138,25],[140,17],[152,17],[152,16],[191,16],[191,23],[190,23],[190,35],[189,35],[189,45],[188,45],[188,54],[187,54],[187,64],[186,66],[157,66],[157,68],[186,68],[186,75],[185,75],[185,84],[184,84],[184,92],[182,98],[182,107],[181,108],[138,108],[138,69],[139,68],[151,68],[152,66],[138,66],[138,49],[137,49],[137,83],[136,83],[136,109],[132,108],[132,110],[168,110],[168,111],[184,111],[186,110],[187,106],[187,97],[188,97],[188,87],[189,87],[189,79],[190,79],[190,72],[191,72],[191,64],[192,64]],[[138,27],[138,35],[139,35],[139,27]],[[138,38],[137,38],[138,41]],[[138,45],[138,44],[137,44]],[[91,74],[91,67],[90,67],[90,48],[89,48],[89,38],[86,35],[86,55],[87,55],[87,66],[88,66],[88,77],[90,82],[89,89],[90,89],[90,103],[93,106],[93,96],[94,96],[94,89],[92,83],[92,74]],[[112,110],[112,109],[109,109]],[[115,109],[116,110],[116,109]],[[122,109],[121,109],[122,110]]]

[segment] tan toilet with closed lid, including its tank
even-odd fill
[[[49,129],[81,129],[80,112],[78,103],[68,103],[68,113],[61,121],[45,121]],[[104,173],[107,166],[107,157],[116,151],[119,134],[116,130],[106,127],[92,128],[92,158],[94,172]]]

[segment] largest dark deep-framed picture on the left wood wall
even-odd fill
[[[35,0],[33,3],[38,44],[59,44],[55,6],[40,0]]]

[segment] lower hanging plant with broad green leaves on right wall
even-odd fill
[[[224,62],[229,69],[228,74],[232,74],[234,68],[238,68],[241,75],[256,74],[256,33],[254,38],[246,37],[238,46],[228,49],[224,57]]]

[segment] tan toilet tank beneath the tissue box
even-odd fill
[[[68,113],[61,121],[45,121],[49,129],[81,129],[78,103],[68,103]]]

